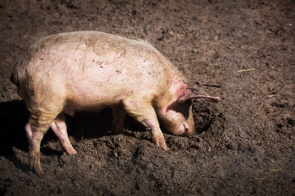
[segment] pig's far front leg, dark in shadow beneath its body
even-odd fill
[[[112,123],[112,134],[118,135],[123,133],[126,112],[122,105],[113,106],[114,120]]]

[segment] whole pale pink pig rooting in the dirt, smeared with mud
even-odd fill
[[[188,86],[182,73],[147,41],[98,31],[40,38],[17,61],[10,81],[30,113],[25,126],[29,167],[38,175],[43,173],[40,143],[49,127],[63,151],[77,153],[64,114],[111,106],[113,134],[123,133],[128,114],[150,129],[154,144],[168,150],[159,122],[171,134],[192,135],[192,99],[220,101]]]

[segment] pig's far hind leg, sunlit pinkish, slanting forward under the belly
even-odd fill
[[[68,138],[66,131],[65,117],[61,112],[50,124],[51,129],[56,134],[59,139],[59,144],[62,147],[63,151],[68,155],[76,154],[77,151],[72,147],[72,144]]]

